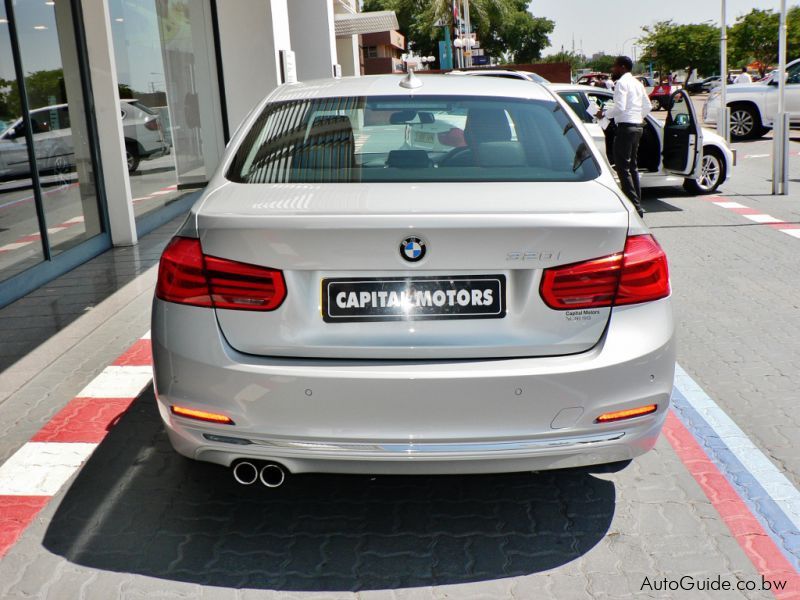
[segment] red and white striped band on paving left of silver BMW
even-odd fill
[[[151,364],[148,332],[0,466],[0,557],[150,384]]]

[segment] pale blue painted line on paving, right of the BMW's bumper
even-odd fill
[[[691,391],[689,393],[691,394]],[[737,454],[700,415],[692,402],[678,389],[677,384],[672,390],[672,407],[684,426],[761,523],[764,531],[772,538],[789,563],[800,572],[800,533],[790,514],[787,514],[767,492],[759,478],[742,464]]]

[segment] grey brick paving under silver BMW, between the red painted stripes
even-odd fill
[[[717,573],[757,579],[663,441],[617,473],[309,475],[270,492],[176,456],[148,390],[0,562],[0,597],[616,598]]]

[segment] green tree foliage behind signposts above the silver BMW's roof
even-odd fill
[[[470,0],[470,20],[481,47],[490,56],[509,62],[541,57],[554,23],[528,12],[530,0]],[[442,22],[453,30],[451,0],[364,0],[364,12],[393,10],[400,32],[419,54],[438,56]]]

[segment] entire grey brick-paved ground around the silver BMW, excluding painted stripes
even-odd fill
[[[800,185],[757,195],[758,160],[722,193],[796,220]],[[797,484],[800,240],[679,191],[645,206],[671,258],[681,364]],[[16,386],[0,458],[148,328],[152,277],[0,374]],[[618,472],[309,475],[270,492],[177,456],[147,391],[0,561],[0,598],[768,597],[640,592],[645,576],[718,574],[758,580],[663,439]]]

